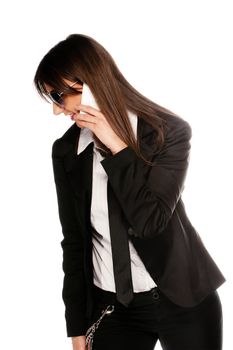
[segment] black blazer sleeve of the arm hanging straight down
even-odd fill
[[[86,293],[84,278],[84,248],[81,225],[75,207],[75,199],[61,156],[60,139],[52,147],[54,181],[63,240],[63,289],[67,336],[84,335],[86,331]]]

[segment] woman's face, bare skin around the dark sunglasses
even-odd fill
[[[73,85],[74,82],[64,79],[65,83],[70,86]],[[46,91],[51,92],[53,88],[47,84],[45,84]],[[77,91],[81,92],[83,86],[79,83],[76,83],[73,85],[73,88],[75,88]],[[62,98],[64,100],[64,106],[57,105],[56,103],[52,102],[53,105],[53,114],[59,115],[63,113],[64,115],[69,115],[71,120],[74,120],[73,116],[77,113],[79,113],[77,106],[81,104],[81,98],[82,94],[77,93],[77,95],[62,95]],[[76,122],[78,124],[78,122]],[[78,125],[79,126],[79,125]],[[79,126],[81,128],[81,126]],[[83,127],[83,126],[82,126]]]

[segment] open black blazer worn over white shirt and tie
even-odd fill
[[[146,165],[129,146],[101,161],[108,176],[110,230],[123,229],[151,277],[180,306],[195,306],[225,278],[190,223],[181,199],[188,167],[191,128],[167,117],[160,152],[156,131],[138,118],[137,137]],[[52,159],[64,239],[67,336],[83,335],[92,313],[91,189],[93,142],[77,155],[80,128],[74,123],[53,144]],[[119,212],[111,215],[113,197]],[[101,198],[100,198],[101,200]]]

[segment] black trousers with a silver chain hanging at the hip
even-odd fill
[[[152,350],[158,340],[164,350],[222,349],[222,305],[217,291],[195,307],[181,307],[155,287],[135,293],[125,307],[116,301],[115,293],[94,290],[93,350]]]

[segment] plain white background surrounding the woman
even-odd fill
[[[51,146],[72,121],[53,116],[32,83],[43,55],[71,33],[93,36],[132,85],[191,124],[183,199],[227,279],[218,292],[224,349],[232,348],[230,5],[224,0],[1,5],[1,349],[71,349],[61,299],[62,234]]]

